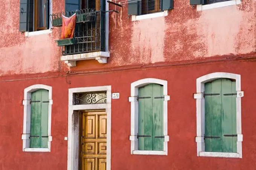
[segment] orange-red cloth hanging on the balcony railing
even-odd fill
[[[71,17],[62,15],[61,39],[73,38],[76,26],[76,14]]]

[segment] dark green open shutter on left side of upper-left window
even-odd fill
[[[34,0],[20,0],[20,32],[33,31]]]

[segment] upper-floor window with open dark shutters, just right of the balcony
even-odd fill
[[[172,9],[173,0],[131,0],[128,15],[144,15]]]

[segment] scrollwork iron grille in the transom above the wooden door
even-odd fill
[[[107,91],[73,93],[73,105],[106,103]]]

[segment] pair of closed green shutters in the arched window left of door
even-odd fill
[[[45,148],[48,142],[48,90],[31,94],[30,147]]]

